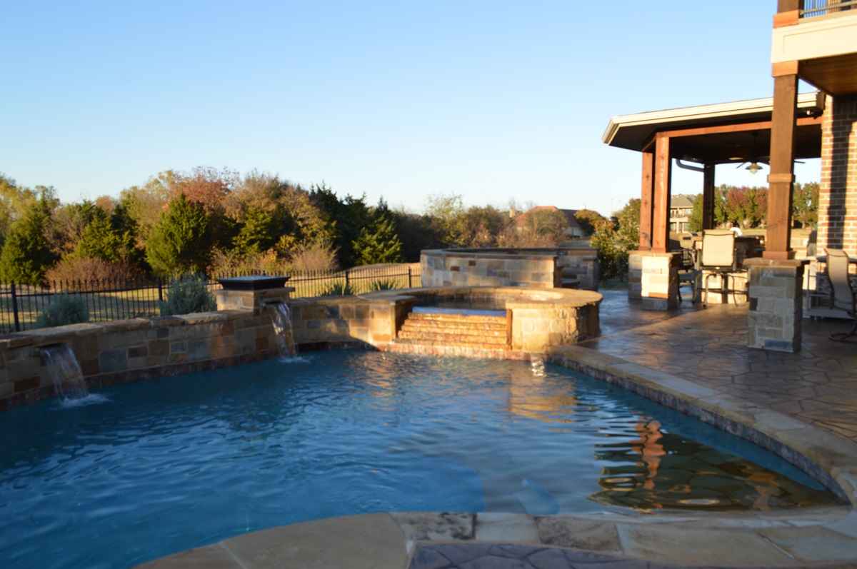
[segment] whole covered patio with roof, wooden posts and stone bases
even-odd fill
[[[602,140],[642,157],[638,249],[629,258],[628,297],[646,310],[680,302],[682,269],[695,259],[697,282],[713,283],[704,302],[748,302],[746,345],[800,350],[803,280],[808,261],[795,259],[791,243],[794,161],[822,157],[823,93],[794,94],[794,107],[775,111],[774,98],[750,99],[613,117]],[[674,167],[702,177],[702,229],[716,229],[717,165],[767,165],[770,174],[764,236],[740,237],[733,270],[708,271],[698,262],[701,243],[669,234]],[[684,245],[684,247],[682,246]],[[689,250],[689,251],[688,251]],[[688,255],[688,252],[692,255]],[[709,277],[711,275],[711,277]],[[764,282],[763,282],[764,281]],[[756,286],[753,287],[752,285]]]

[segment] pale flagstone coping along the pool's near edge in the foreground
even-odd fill
[[[578,566],[534,560],[515,564],[508,560],[511,554],[489,551],[496,544],[559,550],[563,556],[576,556],[578,563],[588,554],[599,558],[593,559],[600,561],[599,569],[645,569],[647,562],[663,566],[842,567],[857,560],[857,517],[847,508],[741,516],[370,513],[255,531],[150,561],[138,569]],[[440,558],[432,560],[425,553],[427,548],[439,549]],[[486,555],[494,559],[468,564]]]

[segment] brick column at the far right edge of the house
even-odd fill
[[[821,125],[818,253],[857,255],[857,95],[827,98]]]

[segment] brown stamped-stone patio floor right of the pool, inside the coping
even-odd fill
[[[857,442],[857,338],[846,320],[803,320],[796,354],[746,347],[747,307],[650,312],[626,290],[604,290],[602,336],[580,344],[744,398]]]

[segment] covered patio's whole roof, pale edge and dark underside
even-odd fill
[[[612,117],[602,141],[612,147],[642,152],[658,132],[685,131],[676,138],[674,158],[705,163],[764,161],[770,152],[770,120],[774,99],[749,99]],[[806,121],[824,111],[824,96],[798,96],[795,159],[821,156],[821,125]],[[698,134],[692,135],[692,132]]]

